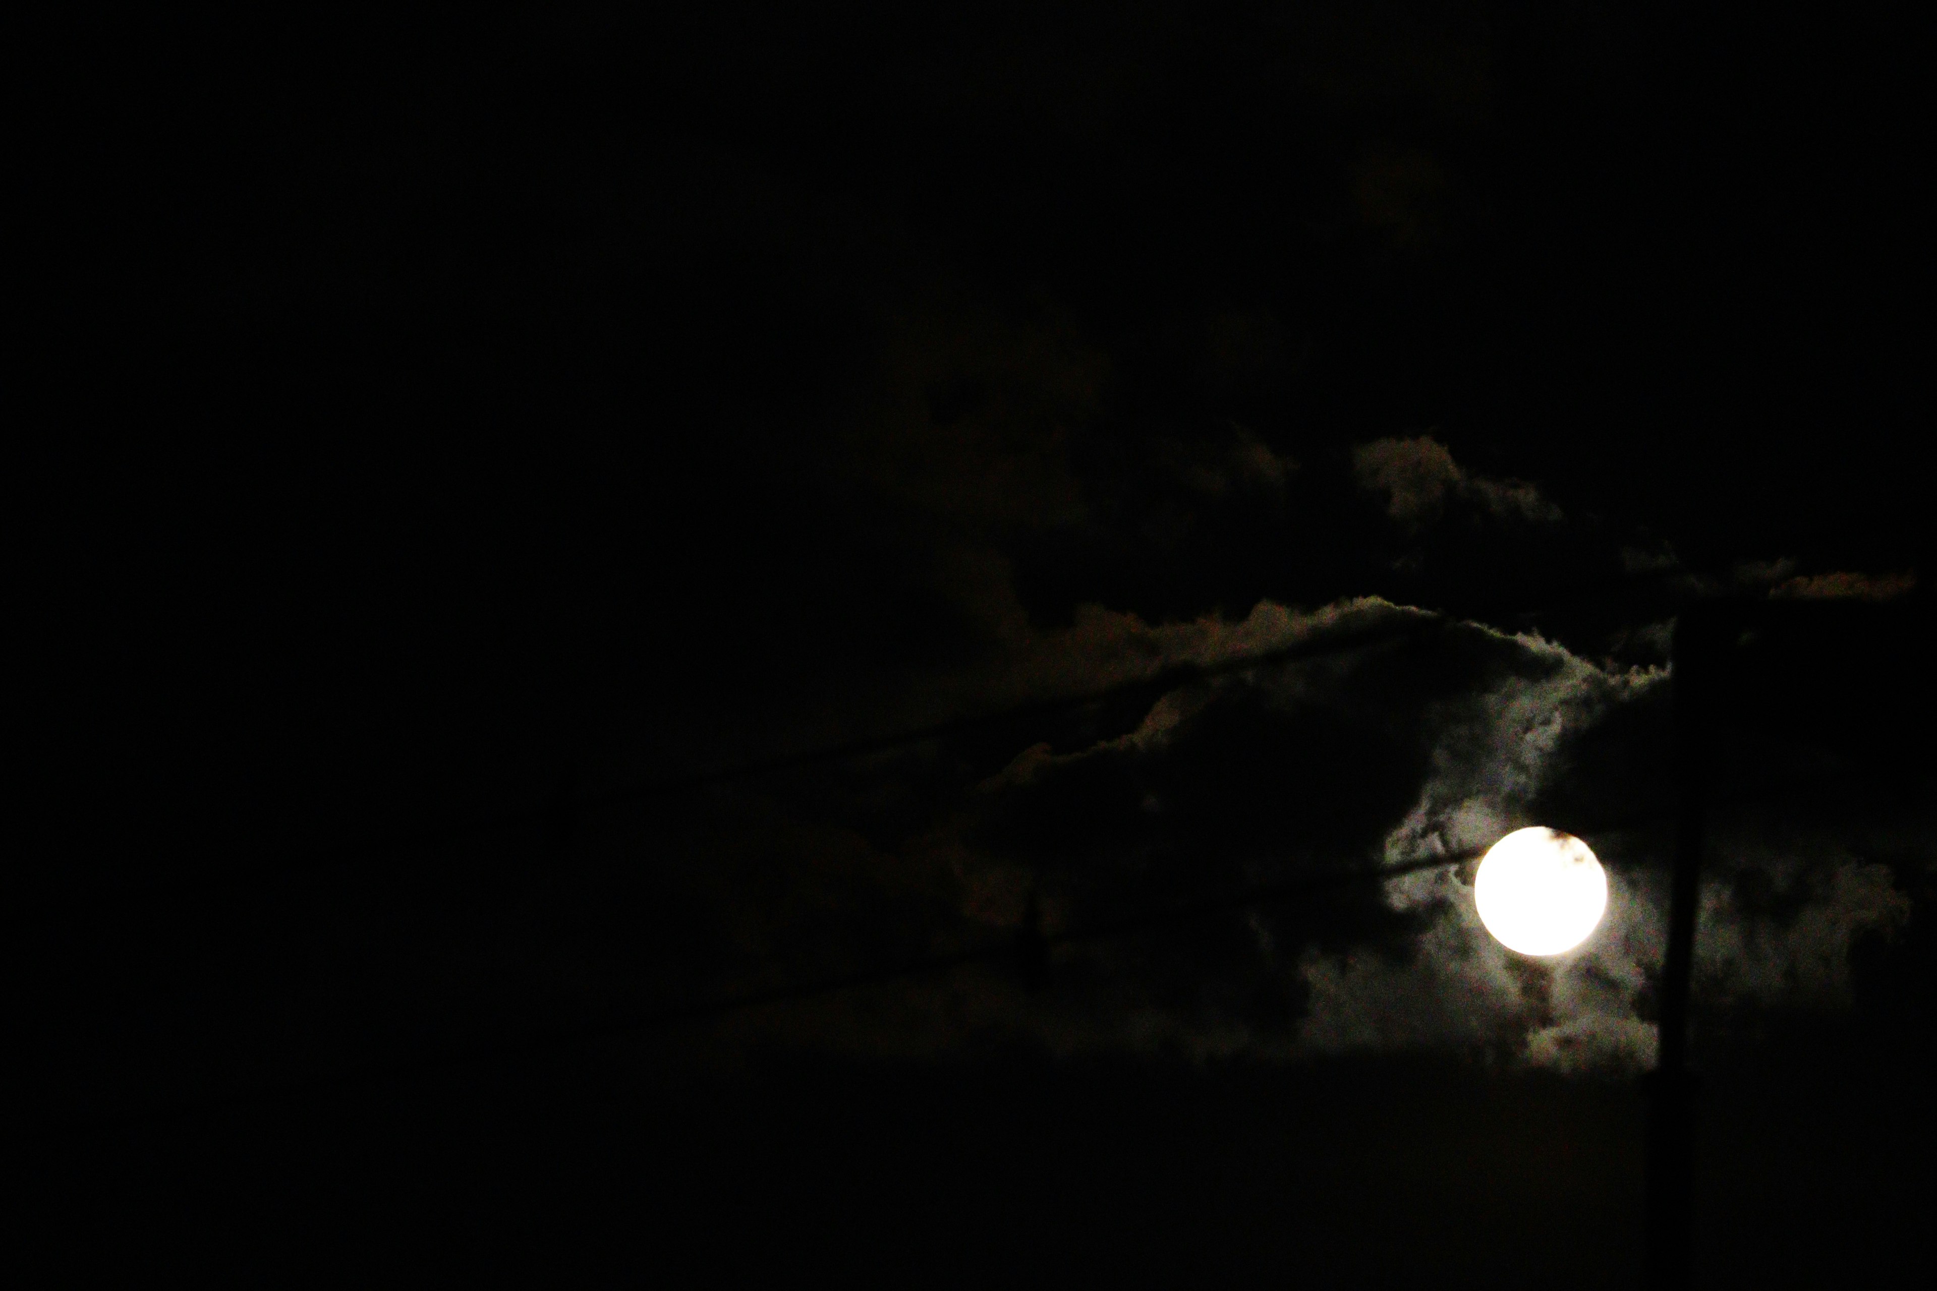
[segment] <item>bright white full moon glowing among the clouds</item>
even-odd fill
[[[1600,925],[1608,873],[1573,834],[1534,825],[1488,848],[1472,898],[1486,931],[1509,950],[1561,954]]]

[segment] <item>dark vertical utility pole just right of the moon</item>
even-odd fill
[[[1676,871],[1668,894],[1668,954],[1660,985],[1660,1057],[1650,1078],[1646,1225],[1648,1285],[1689,1285],[1693,1264],[1695,1078],[1687,1065],[1689,977],[1695,966],[1695,908],[1708,790],[1710,670],[1716,662],[1714,614],[1693,608],[1676,623],[1672,666],[1676,705]]]

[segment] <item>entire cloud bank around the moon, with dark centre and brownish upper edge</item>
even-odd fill
[[[1013,592],[998,575],[999,600]],[[934,776],[972,761],[943,743],[876,763],[856,772],[876,805],[843,825],[823,821],[846,811],[833,805],[839,786],[804,784],[792,811],[823,823],[786,825],[783,811],[761,826],[771,842],[693,883],[732,894],[736,945],[806,962],[835,929],[860,966],[876,919],[922,925],[897,954],[999,945],[1032,908],[1060,937],[1354,865],[1459,857],[1521,825],[1555,825],[1584,834],[1610,873],[1604,923],[1569,956],[1505,950],[1478,919],[1470,863],[1447,865],[1079,939],[1056,952],[1046,993],[992,964],[939,989],[912,981],[827,1001],[777,1043],[932,1053],[1005,1036],[1054,1053],[1428,1049],[1559,1072],[1643,1068],[1666,927],[1668,672],[1435,623],[1379,598],[1315,610],[1265,600],[1236,619],[1154,623],[1092,604],[1060,629],[1017,612],[1009,652],[978,676],[982,697],[1087,693],[1174,664],[1418,631],[1139,691],[1133,706],[1050,739],[1032,724],[1007,765],[959,782],[953,805],[901,836],[870,813],[897,794],[932,799]],[[959,708],[963,695],[941,691],[936,703]],[[821,859],[804,865],[808,854]],[[783,856],[796,857],[788,883],[763,879]],[[1827,828],[1755,834],[1718,821],[1710,861],[1699,981],[1712,1001],[1836,1006],[1852,946],[1908,917],[1892,871]],[[784,910],[763,916],[761,892]],[[765,1034],[744,1026],[748,1043]]]

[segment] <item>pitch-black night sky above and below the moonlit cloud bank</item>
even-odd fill
[[[139,902],[291,873],[356,890],[399,838],[537,809],[571,776],[786,749],[817,695],[972,664],[920,565],[932,521],[845,466],[895,319],[936,300],[1106,356],[1067,445],[1104,519],[992,538],[1038,623],[1085,600],[1156,621],[1534,596],[1614,573],[1621,542],[1695,569],[1927,569],[1925,54],[1881,6],[728,4],[68,33],[29,197],[56,362],[15,548],[45,643],[17,687],[8,875],[27,1034],[126,1014],[95,1051],[112,1065],[176,1026],[143,1020],[141,991],[176,991],[155,1016],[188,1018],[203,1059],[153,1090],[219,1101],[256,1061],[234,1018],[279,989],[252,966],[281,962],[275,912],[304,898],[170,896],[159,923]],[[1271,319],[1269,358],[1207,368],[1224,317]],[[928,397],[945,420],[1003,395]],[[1433,432],[1588,538],[1447,538],[1420,575],[1323,494],[1182,538],[1143,525],[1170,505],[1153,445],[1234,422],[1338,480],[1350,445]],[[519,846],[436,883],[513,890]],[[1904,954],[1879,979],[1927,981]],[[1780,1066],[1780,1097],[1860,1119],[1863,1090],[1898,1090],[1910,1024],[1873,1022],[1836,1061]],[[223,1113],[139,1111],[167,1099],[105,1080],[25,1125],[77,1248],[136,1262],[1631,1274],[1627,1086],[1029,1055],[682,1084],[657,1049],[597,1053]],[[134,1128],[91,1119],[130,1107]],[[1716,1134],[1710,1214],[1751,1208],[1755,1134]],[[1858,1217],[1803,1206],[1815,1227],[1712,1268],[1900,1254],[1918,1134],[1881,1165],[1819,1142],[1815,1179],[1858,1188]],[[1768,1214],[1827,1196],[1815,1179]],[[1476,1239],[1536,1216],[1571,1216],[1565,1252]]]

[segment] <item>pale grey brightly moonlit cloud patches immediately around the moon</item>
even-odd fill
[[[1497,635],[1495,635],[1497,637]],[[1499,639],[1505,646],[1507,639]],[[1635,778],[1557,792],[1583,749],[1617,732],[1621,761],[1662,763],[1666,697],[1658,668],[1608,672],[1552,643],[1511,639],[1519,664],[1490,685],[1437,705],[1431,770],[1416,805],[1391,830],[1389,861],[1482,848],[1542,807],[1586,805],[1583,828],[1610,869],[1604,923],[1577,952],[1515,960],[1478,919],[1468,869],[1424,871],[1387,885],[1395,910],[1426,919],[1402,962],[1307,954],[1311,1010],[1302,1039],[1319,1051],[1455,1047],[1491,1051],[1567,1072],[1645,1068],[1654,1057],[1646,1014],[1666,935],[1672,836],[1645,821],[1594,828],[1592,807],[1666,805]],[[1594,759],[1606,768],[1610,759]],[[1923,844],[1927,852],[1927,844]],[[1768,809],[1710,823],[1697,987],[1710,1006],[1834,1006],[1850,999],[1850,952],[1910,917],[1892,871],[1860,859],[1848,840],[1811,825],[1805,807],[1774,823]]]

